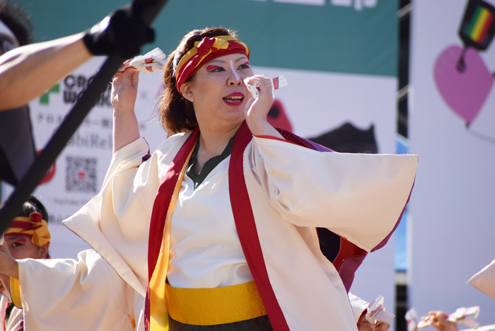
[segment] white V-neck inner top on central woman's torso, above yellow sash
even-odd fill
[[[221,161],[196,190],[184,175],[170,223],[171,286],[201,289],[252,281],[228,194],[230,159]]]

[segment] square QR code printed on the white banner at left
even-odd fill
[[[96,158],[66,157],[65,189],[69,192],[96,193]]]

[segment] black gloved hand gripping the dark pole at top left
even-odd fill
[[[124,59],[138,55],[141,46],[154,39],[153,29],[147,27],[139,17],[131,15],[129,6],[110,13],[83,37],[92,54],[120,54]]]

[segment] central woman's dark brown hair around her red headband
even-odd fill
[[[159,116],[169,136],[179,132],[187,132],[197,127],[196,115],[194,115],[192,103],[180,95],[175,87],[175,67],[184,54],[194,47],[194,42],[201,41],[204,37],[216,37],[217,35],[231,35],[235,37],[235,32],[224,28],[192,30],[182,38],[177,49],[168,57],[163,73],[165,91],[163,91],[161,97]]]

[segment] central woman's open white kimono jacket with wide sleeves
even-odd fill
[[[151,157],[144,139],[124,146],[113,156],[100,194],[64,221],[142,297],[153,202],[190,135],[166,139]],[[417,156],[321,153],[273,137],[250,138],[241,155],[263,267],[281,312],[272,317],[267,307],[274,330],[356,330],[347,291],[322,255],[315,227],[329,228],[367,252],[377,248],[407,203]],[[29,303],[29,313],[50,318],[49,301],[25,286],[30,281],[25,267],[21,263],[23,303]],[[88,305],[101,300],[94,292],[77,292],[72,295]],[[264,300],[262,289],[260,294]],[[53,300],[60,304],[64,298]],[[139,320],[137,313],[133,317]]]

